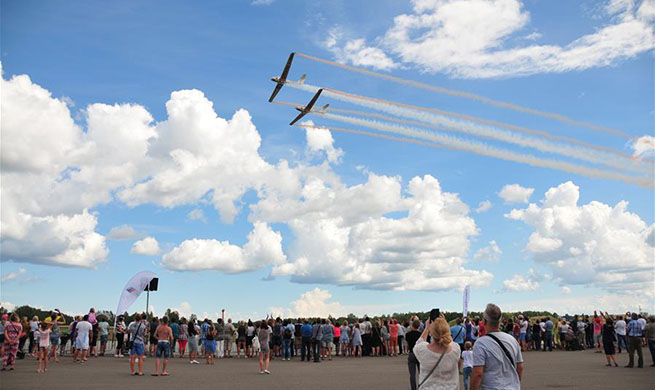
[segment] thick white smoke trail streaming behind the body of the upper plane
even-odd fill
[[[308,84],[300,85],[294,82],[289,82],[288,84],[293,88],[306,91],[313,92],[317,89],[317,87]],[[535,148],[545,152],[557,153],[591,163],[603,164],[616,169],[632,170],[641,173],[652,173],[651,166],[638,163],[632,159],[617,158],[616,156],[605,152],[594,152],[587,148],[552,143],[539,138],[526,137],[510,131],[497,129],[488,125],[477,125],[467,121],[458,121],[443,115],[417,111],[415,110],[415,106],[407,106],[400,103],[368,98],[365,96],[354,95],[327,88],[323,89],[323,94],[337,100],[372,108],[378,111],[387,112],[392,115],[416,119],[431,125],[438,125],[438,129],[440,130],[462,131],[478,137],[495,139],[519,146]]]

